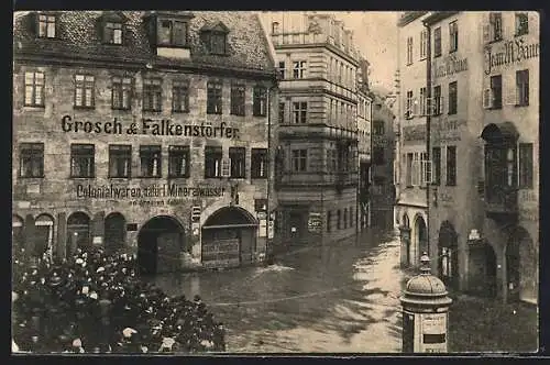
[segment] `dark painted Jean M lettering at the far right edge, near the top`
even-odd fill
[[[494,47],[494,48],[493,48]],[[538,57],[539,43],[526,43],[524,38],[506,41],[485,48],[485,74],[490,75],[494,67],[520,63],[524,59]]]

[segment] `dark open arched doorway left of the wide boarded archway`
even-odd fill
[[[157,215],[148,220],[138,234],[140,274],[177,272],[184,240],[184,228],[175,218]]]

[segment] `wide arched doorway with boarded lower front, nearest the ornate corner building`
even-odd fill
[[[246,210],[224,207],[202,225],[202,265],[235,267],[253,262],[257,221]]]

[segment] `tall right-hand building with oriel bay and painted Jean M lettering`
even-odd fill
[[[538,14],[435,12],[425,24],[433,267],[452,289],[537,302]]]

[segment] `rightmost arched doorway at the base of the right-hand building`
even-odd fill
[[[515,229],[506,245],[508,299],[538,301],[538,254],[529,233]]]

